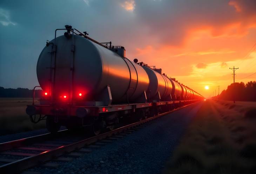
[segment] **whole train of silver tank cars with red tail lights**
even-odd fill
[[[36,74],[40,86],[35,88],[41,87],[43,97],[35,104],[33,96],[26,113],[34,123],[46,120],[51,133],[66,126],[98,135],[121,121],[147,119],[204,99],[161,68],[129,60],[123,46],[100,43],[70,25],[47,40]]]

